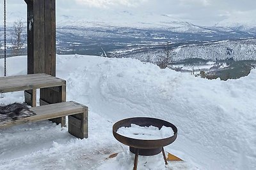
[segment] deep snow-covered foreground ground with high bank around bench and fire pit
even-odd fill
[[[8,75],[26,74],[26,56],[7,65]],[[112,125],[128,117],[176,125],[178,137],[165,150],[185,160],[165,167],[161,154],[140,156],[138,169],[256,169],[256,70],[207,80],[136,59],[84,55],[58,55],[56,69],[67,80],[67,100],[89,108],[88,139],[49,121],[2,129],[0,169],[132,169],[134,155],[112,135]],[[0,103],[23,102],[22,94],[3,94]]]

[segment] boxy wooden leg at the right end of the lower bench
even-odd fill
[[[77,138],[88,138],[88,108],[84,112],[68,116],[68,132]]]

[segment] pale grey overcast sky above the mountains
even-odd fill
[[[23,0],[8,0],[6,3],[8,15],[26,18],[26,3]],[[230,17],[255,17],[250,14],[255,14],[256,0],[56,0],[57,20],[63,15],[86,18],[95,13],[98,17],[102,13],[106,19],[106,14],[109,13],[108,18],[115,17],[117,11],[131,15],[168,15],[209,26]]]

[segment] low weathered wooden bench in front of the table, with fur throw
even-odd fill
[[[0,129],[13,125],[68,116],[68,132],[77,138],[88,138],[88,107],[74,101],[29,108],[36,115],[0,124]]]

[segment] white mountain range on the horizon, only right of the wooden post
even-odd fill
[[[248,32],[256,33],[256,20],[250,16],[228,17],[212,26],[193,24],[172,15],[156,13],[131,13],[129,11],[102,11],[86,13],[86,17],[77,15],[60,15],[57,27],[132,27],[142,29],[168,29],[173,32]]]

